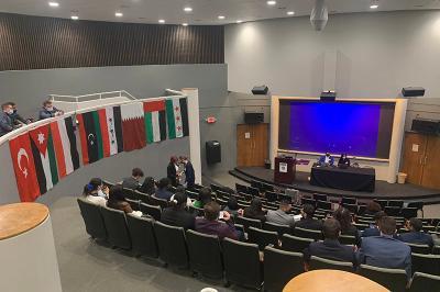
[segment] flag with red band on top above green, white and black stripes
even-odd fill
[[[146,143],[166,139],[165,100],[144,102]]]

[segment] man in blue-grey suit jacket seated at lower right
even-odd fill
[[[396,221],[384,216],[378,222],[380,236],[362,239],[359,262],[387,269],[405,269],[411,278],[411,249],[405,243],[393,238],[396,233]]]

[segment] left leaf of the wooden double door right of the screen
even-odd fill
[[[405,135],[404,166],[402,171],[407,173],[407,181],[421,184],[424,176],[424,159],[427,147],[427,136],[417,133]]]

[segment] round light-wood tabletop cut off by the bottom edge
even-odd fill
[[[292,279],[283,292],[381,292],[389,291],[386,288],[362,276],[338,271],[315,270],[301,273]]]

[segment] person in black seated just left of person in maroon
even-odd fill
[[[162,212],[161,222],[177,227],[184,227],[185,229],[194,229],[196,216],[185,210],[186,202],[187,195],[185,192],[176,192],[170,201],[172,206]]]

